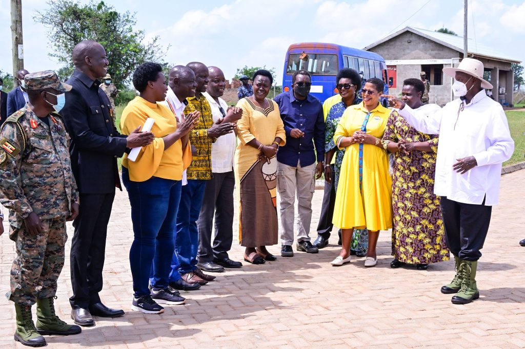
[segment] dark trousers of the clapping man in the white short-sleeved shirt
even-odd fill
[[[235,175],[233,171],[213,173],[206,181],[201,213],[197,220],[199,263],[213,261],[215,258],[228,258],[233,243],[233,190]],[[213,219],[215,216],[215,238],[212,247]]]

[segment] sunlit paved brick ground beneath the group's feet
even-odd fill
[[[318,190],[313,232],[321,199]],[[363,258],[332,267],[329,261],[338,254],[332,244],[318,255],[297,253],[264,266],[245,263],[185,295],[185,306],[145,315],[130,310],[128,252],[133,234],[127,195],[118,193],[109,226],[102,299],[127,313],[111,321],[97,319],[95,327],[80,335],[47,341],[53,348],[525,347],[525,247],[518,245],[525,238],[524,204],[525,170],[503,176],[500,205],[493,210],[479,265],[481,298],[466,306],[454,306],[450,296],[439,292],[453,276],[451,261],[427,271],[391,269],[390,234],[383,232],[375,268],[365,269]],[[0,247],[0,290],[5,293],[14,254],[7,234],[0,238]],[[68,243],[67,256],[69,247]],[[278,250],[277,245],[270,248],[275,254]],[[242,251],[234,243],[230,257],[241,260]],[[56,304],[69,322],[70,290],[67,260]],[[13,305],[2,298],[0,347],[15,347],[14,330]]]

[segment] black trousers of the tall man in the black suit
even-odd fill
[[[100,302],[106,236],[115,193],[80,194],[80,213],[73,222],[71,286],[69,303],[74,309]]]

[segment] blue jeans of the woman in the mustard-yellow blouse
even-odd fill
[[[122,182],[131,203],[134,240],[130,267],[134,296],[139,298],[150,295],[150,274],[153,289],[167,288],[182,183],[158,177],[133,182],[125,167],[122,167]]]

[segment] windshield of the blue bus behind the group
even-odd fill
[[[337,54],[329,53],[290,53],[287,74],[306,70],[312,75],[337,75],[339,62]]]

